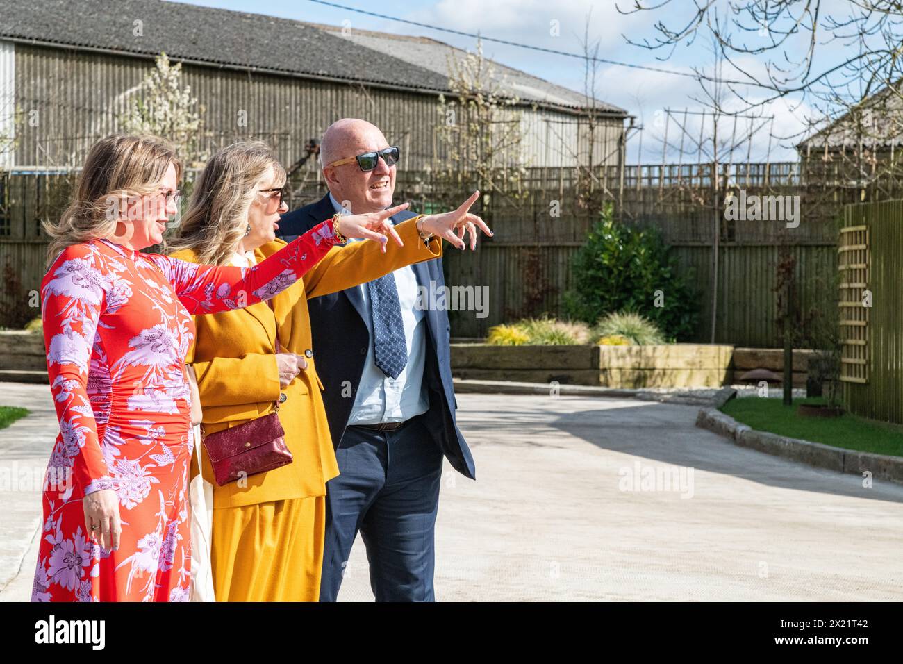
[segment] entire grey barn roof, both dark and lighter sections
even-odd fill
[[[0,0],[0,39],[153,56],[175,61],[391,88],[447,92],[448,44],[386,33],[323,29],[313,23],[163,0]],[[140,23],[138,23],[140,22]],[[138,29],[140,28],[140,29]],[[582,95],[504,65],[512,96],[543,105],[579,108]],[[603,112],[620,108],[597,103]]]

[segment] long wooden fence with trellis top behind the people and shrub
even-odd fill
[[[831,223],[841,202],[860,195],[858,190],[831,192],[830,188],[806,183],[799,189],[796,164],[732,164],[721,173],[730,191],[742,187],[748,194],[781,193],[801,196],[802,219],[797,229],[780,221],[738,221],[719,218],[720,267],[716,341],[745,346],[779,345],[775,322],[775,278],[778,248],[796,245],[801,299],[815,302],[811,294],[836,270],[836,247]],[[584,173],[585,175],[585,173]],[[479,252],[446,252],[448,285],[485,286],[489,290],[489,314],[451,312],[456,336],[482,336],[491,325],[523,316],[563,314],[563,297],[570,287],[570,261],[598,220],[606,196],[621,201],[616,210],[628,224],[655,227],[675,250],[684,267],[693,267],[692,283],[700,293],[700,325],[695,338],[709,341],[712,308],[712,243],[716,224],[705,187],[712,186],[710,164],[661,164],[628,166],[621,188],[617,166],[600,167],[591,174],[593,196],[576,195],[581,174],[573,168],[527,168],[520,185],[521,198],[490,194],[478,203],[478,213],[490,221],[495,238],[482,238]],[[0,187],[12,200],[4,214],[0,195],[0,267],[14,268],[27,293],[40,285],[43,276],[43,246],[39,220],[59,214],[68,195],[70,175],[16,174],[6,176]],[[437,181],[424,171],[401,170],[397,177],[397,200],[414,203],[416,210],[441,210],[459,201],[470,188],[461,182]],[[794,189],[796,187],[796,190]],[[306,191],[306,190],[305,190]],[[312,183],[306,200],[319,198],[322,182]],[[560,216],[554,216],[553,203]],[[4,225],[4,220],[7,220]],[[27,241],[26,241],[27,240]],[[37,244],[31,244],[36,242]],[[447,246],[448,247],[448,246]],[[0,305],[8,308],[22,301],[21,295],[5,287]],[[5,298],[5,299],[3,299]],[[18,318],[27,312],[17,314]],[[14,324],[4,314],[0,325]]]

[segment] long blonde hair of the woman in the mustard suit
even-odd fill
[[[283,186],[285,169],[263,141],[239,141],[210,157],[200,173],[188,211],[166,252],[191,249],[204,265],[226,265],[245,236],[256,186],[269,171],[274,187]]]

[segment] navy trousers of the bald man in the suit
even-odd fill
[[[326,484],[320,601],[335,602],[360,531],[377,602],[434,602],[434,535],[442,451],[422,416],[397,431],[349,426]]]

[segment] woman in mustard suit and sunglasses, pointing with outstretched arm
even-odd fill
[[[285,244],[274,233],[286,210],[284,182],[283,167],[263,143],[238,143],[215,154],[169,243],[172,257],[251,266],[278,251]],[[442,241],[422,233],[450,238],[448,233],[470,218],[456,211],[406,220],[395,227],[403,246],[388,240],[333,248],[303,280],[272,298],[273,308],[261,303],[195,316],[188,361],[197,374],[205,435],[272,413],[279,403],[293,454],[292,463],[224,486],[213,481],[203,456],[204,477],[213,482],[217,601],[315,602],[320,593],[326,482],[339,469],[317,378],[307,298],[442,256]]]

